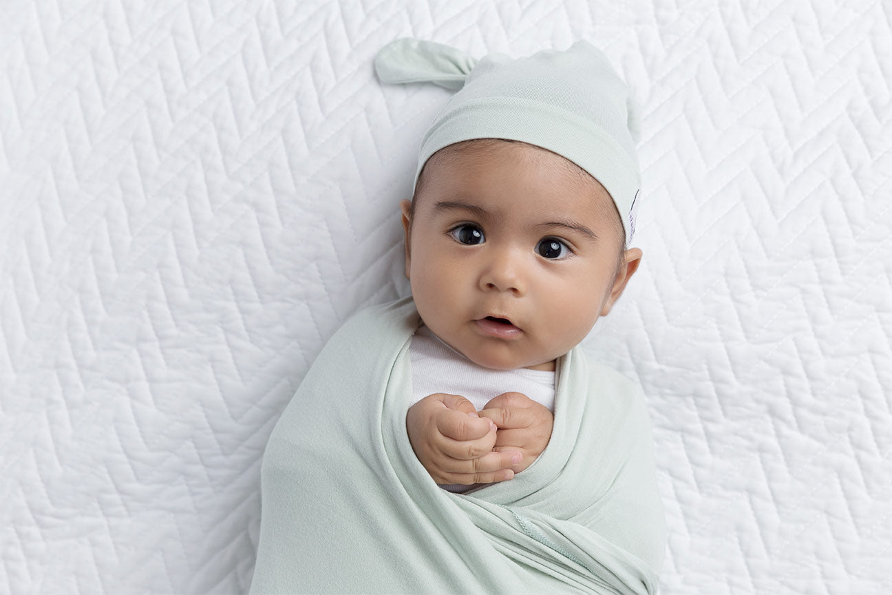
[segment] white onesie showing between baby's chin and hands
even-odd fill
[[[452,349],[427,326],[420,326],[409,343],[412,369],[412,401],[429,394],[459,394],[478,411],[501,393],[523,393],[554,411],[555,373],[548,370],[492,370],[478,366]],[[450,492],[467,492],[475,485],[441,485]]]

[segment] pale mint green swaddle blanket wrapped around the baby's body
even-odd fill
[[[418,323],[411,298],[363,310],[310,368],[263,458],[252,592],[655,592],[665,525],[640,392],[574,348],[539,459],[446,492],[406,433]]]

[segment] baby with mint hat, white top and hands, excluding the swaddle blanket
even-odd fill
[[[471,76],[444,81],[446,61]],[[626,249],[638,192],[628,92],[587,44],[474,64],[404,39],[376,67],[385,82],[464,87],[429,128],[413,200],[401,203],[424,325],[411,346],[409,439],[437,483],[463,492],[511,479],[545,449],[556,361],[638,269],[641,251]]]

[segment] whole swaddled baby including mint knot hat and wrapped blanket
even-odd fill
[[[344,322],[273,429],[252,592],[656,592],[646,404],[578,347],[641,260],[628,89],[584,42],[402,39],[376,70],[458,91],[401,202],[412,294]]]

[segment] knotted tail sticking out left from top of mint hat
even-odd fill
[[[383,83],[434,83],[457,91],[477,60],[450,45],[403,38],[384,45],[375,56],[375,71]]]

